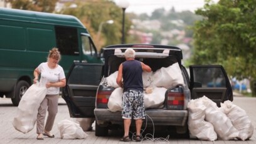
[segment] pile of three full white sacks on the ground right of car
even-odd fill
[[[231,101],[216,103],[206,96],[188,103],[188,128],[200,140],[249,140],[253,125],[246,112]]]

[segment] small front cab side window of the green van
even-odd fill
[[[95,54],[95,48],[92,43],[90,43],[90,38],[88,36],[82,35],[82,48],[83,48],[83,54],[85,55],[94,55]]]

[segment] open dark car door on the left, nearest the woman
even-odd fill
[[[102,78],[102,67],[103,64],[73,63],[61,95],[71,117],[94,117],[95,96]]]

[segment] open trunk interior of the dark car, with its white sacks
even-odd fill
[[[168,106],[168,94],[166,91],[171,92],[172,88],[176,86],[184,86],[184,78],[181,72],[181,68],[176,60],[175,56],[165,56],[161,58],[136,58],[138,61],[142,61],[151,67],[152,72],[142,73],[142,80],[144,85],[144,106],[146,109],[163,109],[171,108],[174,110],[184,110],[184,98],[182,102],[177,103],[175,107]],[[108,109],[110,111],[121,110],[121,95],[122,89],[116,84],[117,71],[121,63],[125,61],[125,58],[111,55],[107,59],[107,77],[104,81],[104,85],[112,88],[114,91],[109,98]],[[174,71],[172,71],[173,69]],[[178,73],[177,73],[178,71]],[[115,84],[115,85],[112,85]],[[188,88],[187,88],[188,89]],[[168,92],[167,92],[168,93]],[[179,91],[179,93],[183,93]],[[189,100],[189,98],[185,98]],[[118,102],[117,102],[118,101]],[[178,106],[179,105],[179,106]],[[118,107],[118,108],[117,108]]]

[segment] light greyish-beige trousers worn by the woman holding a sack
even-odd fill
[[[46,95],[41,102],[36,120],[36,133],[43,133],[44,130],[51,131],[53,128],[55,116],[58,112],[58,98],[59,95]],[[48,111],[48,117],[45,124],[46,110]]]

